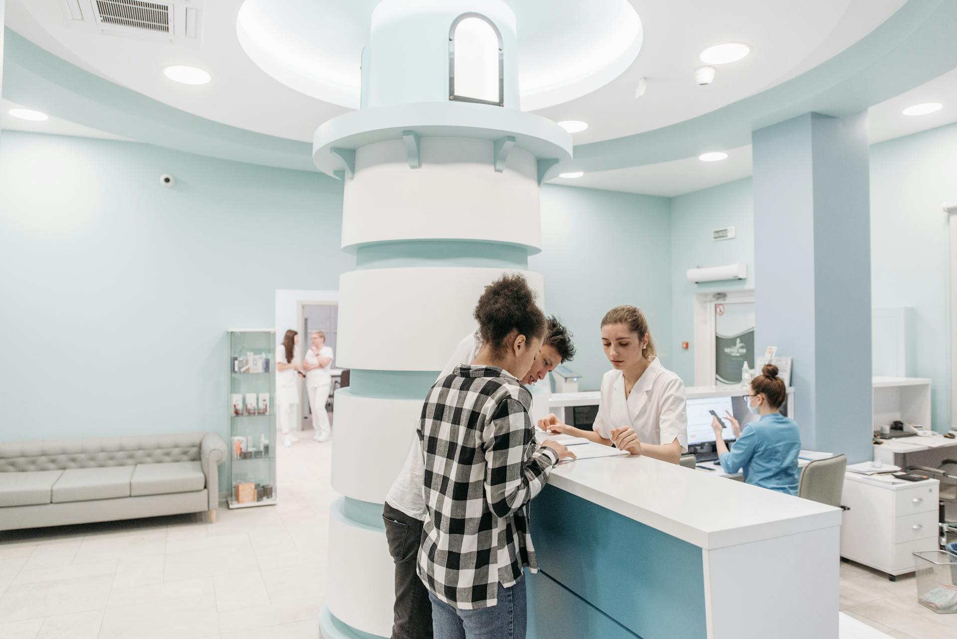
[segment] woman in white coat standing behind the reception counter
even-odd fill
[[[539,420],[539,428],[677,464],[688,450],[684,383],[658,361],[648,320],[634,306],[616,306],[601,321],[601,340],[613,369],[602,379],[592,430],[554,414]]]

